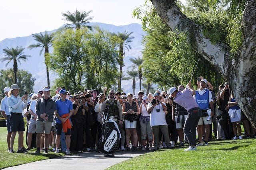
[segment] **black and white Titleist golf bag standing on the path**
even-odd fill
[[[109,117],[108,115],[111,115],[110,110],[106,108],[102,115],[102,135],[98,142],[99,150],[105,154],[105,157],[114,156],[114,153],[119,148],[119,138],[121,138],[114,117]]]

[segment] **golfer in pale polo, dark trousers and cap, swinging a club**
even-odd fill
[[[188,89],[183,91],[178,91],[175,87],[169,89],[170,95],[174,97],[174,102],[188,111],[188,117],[185,121],[183,131],[188,138],[190,146],[184,151],[196,150],[196,127],[202,116],[201,109],[193,98],[193,95],[196,93],[191,87],[191,81],[189,81],[187,86]]]

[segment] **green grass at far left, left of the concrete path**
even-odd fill
[[[63,156],[63,153],[53,154],[53,152],[49,152],[49,154],[39,154],[36,155],[34,152],[36,149],[30,150],[27,154],[10,154],[7,152],[8,146],[6,142],[7,129],[6,127],[0,127],[0,169],[6,168],[9,166],[16,166],[20,164],[25,164],[29,162],[34,162],[38,160],[44,160],[48,158],[55,158],[59,156]],[[25,142],[25,133],[24,133],[24,146],[26,147]],[[17,152],[18,148],[18,133],[16,134],[15,142],[14,142],[14,150]]]

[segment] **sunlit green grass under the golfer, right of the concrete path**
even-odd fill
[[[255,169],[256,139],[209,142],[196,151],[159,150],[137,156],[108,169]]]

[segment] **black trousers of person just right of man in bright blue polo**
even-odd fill
[[[83,149],[84,124],[74,123],[71,128],[70,150],[82,151]]]

